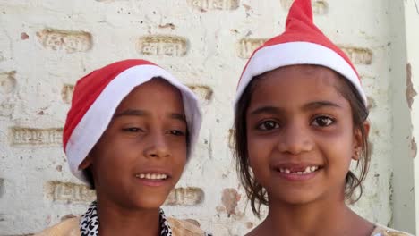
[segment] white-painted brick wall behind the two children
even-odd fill
[[[391,224],[388,1],[312,2],[316,23],[355,63],[371,105],[371,171],[354,209]],[[0,235],[38,232],[80,215],[94,198],[70,174],[61,132],[75,81],[125,58],[159,63],[201,98],[197,152],[167,199],[167,214],[215,235],[252,229],[259,220],[232,162],[231,104],[246,58],[283,31],[291,3],[0,0]]]

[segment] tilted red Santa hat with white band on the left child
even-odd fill
[[[201,111],[192,90],[154,63],[137,59],[111,63],[77,82],[72,107],[67,114],[64,152],[72,173],[81,181],[88,183],[79,165],[107,129],[117,106],[135,87],[154,77],[167,80],[182,94],[190,133],[187,155],[188,158],[191,156],[201,128]]]

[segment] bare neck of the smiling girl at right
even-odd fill
[[[261,223],[260,232],[278,235],[370,235],[372,223],[356,215],[344,198],[316,200],[302,205],[290,205],[269,199],[269,214]],[[266,231],[265,231],[266,230]],[[255,235],[264,235],[256,233]]]

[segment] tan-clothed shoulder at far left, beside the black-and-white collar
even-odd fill
[[[34,236],[80,236],[79,217],[65,219]]]

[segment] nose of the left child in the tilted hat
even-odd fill
[[[148,144],[144,148],[144,156],[160,158],[170,156],[170,148],[165,138],[163,133],[150,135]]]

